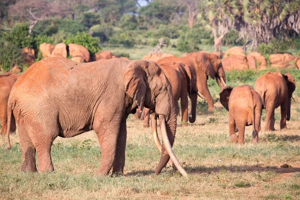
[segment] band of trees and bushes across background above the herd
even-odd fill
[[[37,60],[42,42],[74,42],[91,54],[112,49],[140,59],[160,37],[168,45],[162,51],[177,56],[232,45],[266,57],[299,56],[299,6],[300,0],[2,0],[0,37],[15,50],[34,48]],[[19,63],[17,53],[3,57]]]

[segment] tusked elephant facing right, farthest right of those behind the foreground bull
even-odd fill
[[[213,99],[207,86],[208,76],[212,79],[215,78],[220,88],[226,85],[225,72],[220,58],[214,53],[200,52],[190,53],[185,57],[163,57],[157,60],[157,62],[159,63],[167,60],[182,62],[183,64],[190,66],[195,71],[198,91],[206,98],[208,111],[212,111]]]

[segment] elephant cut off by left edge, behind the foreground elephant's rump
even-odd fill
[[[0,120],[1,120],[1,131],[0,134],[5,134],[7,130],[7,101],[10,90],[20,75],[6,72],[0,75]],[[15,131],[14,116],[11,116],[10,132]]]

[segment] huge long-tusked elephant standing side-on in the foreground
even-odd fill
[[[34,63],[13,85],[7,107],[18,125],[21,169],[36,171],[36,151],[38,171],[52,171],[53,140],[94,129],[101,147],[96,175],[108,174],[111,167],[112,173],[123,173],[126,118],[137,106],[159,116],[163,146],[155,174],[171,158],[187,175],[171,148],[176,112],[170,83],[154,62],[114,58],[77,63],[48,57]]]

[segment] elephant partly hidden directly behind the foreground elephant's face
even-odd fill
[[[162,69],[163,73],[171,83],[177,114],[179,113],[178,100],[180,98],[181,125],[187,125],[187,118],[190,123],[193,123],[196,118],[197,95],[199,95],[201,98],[204,98],[203,95],[198,92],[195,71],[190,66],[187,66],[181,62],[176,63],[173,61],[167,61],[156,63]],[[188,97],[191,99],[191,117],[187,117]],[[144,117],[143,126],[149,127],[149,109],[144,108],[142,114]]]

